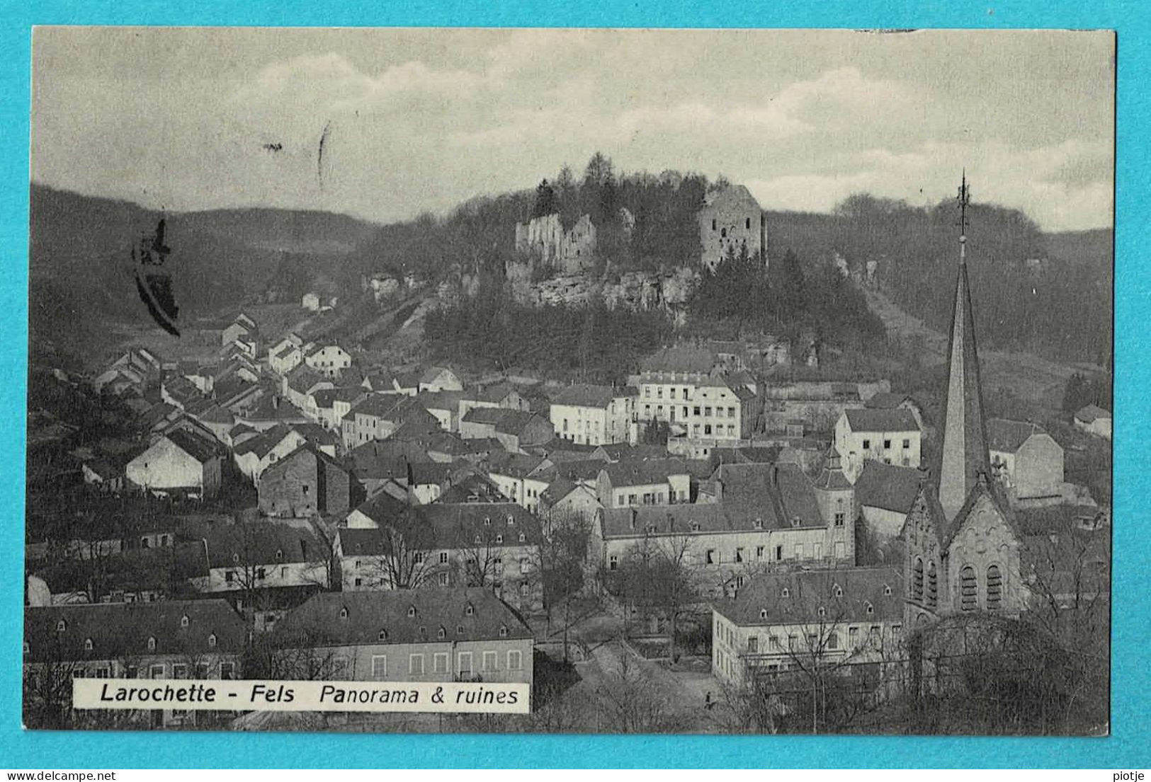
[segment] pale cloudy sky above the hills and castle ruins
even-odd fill
[[[602,151],[765,209],[1110,227],[1107,32],[37,28],[32,179],[152,208],[445,214]]]

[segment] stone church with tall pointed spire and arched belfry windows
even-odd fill
[[[967,277],[965,176],[959,190],[959,269],[950,346],[943,437],[904,526],[905,626],[944,616],[993,612],[1019,615],[1027,590],[1021,534],[992,480],[971,293]]]

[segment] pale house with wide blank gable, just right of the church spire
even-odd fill
[[[1064,482],[1064,450],[1039,425],[988,419],[992,475],[1020,498],[1058,491]]]

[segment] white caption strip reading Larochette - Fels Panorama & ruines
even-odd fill
[[[74,678],[74,708],[527,714],[521,682]]]

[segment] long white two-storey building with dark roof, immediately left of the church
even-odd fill
[[[899,568],[763,573],[711,608],[711,674],[746,687],[779,670],[897,661],[904,649]]]

